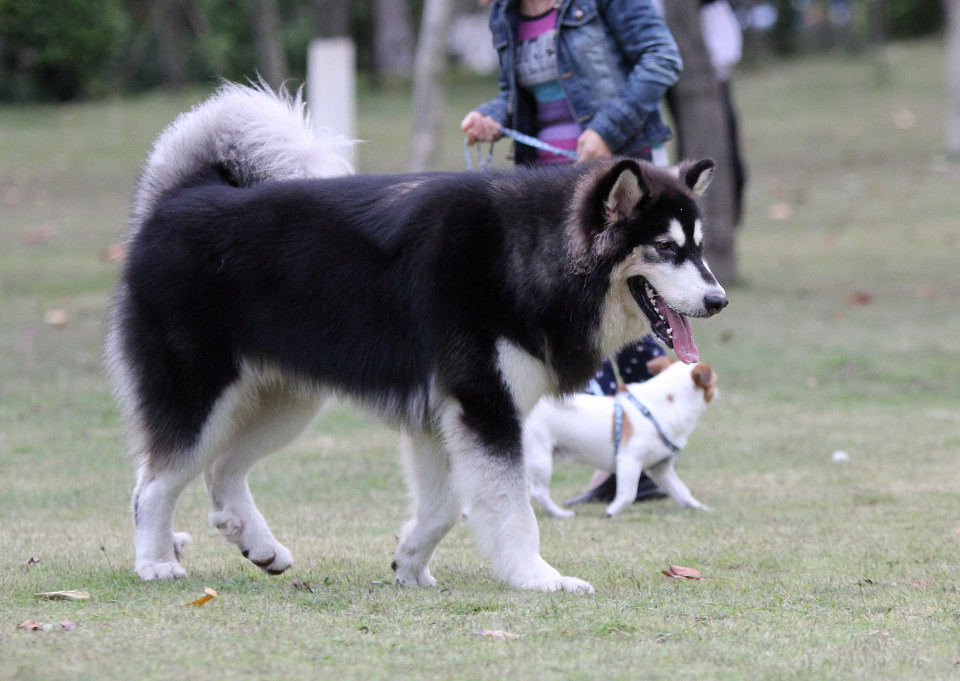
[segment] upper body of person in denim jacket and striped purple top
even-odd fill
[[[539,28],[530,29],[538,21]],[[649,158],[649,150],[670,137],[660,100],[683,63],[651,0],[494,0],[490,30],[500,57],[500,93],[464,118],[469,144],[499,138],[500,125],[543,139],[554,114],[568,125],[567,133],[557,133],[563,144],[555,146],[573,147],[581,161]],[[525,40],[524,31],[533,39]],[[572,141],[571,124],[578,129]],[[518,164],[554,160],[516,145]]]

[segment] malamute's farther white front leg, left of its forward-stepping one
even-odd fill
[[[427,435],[404,434],[400,450],[414,515],[400,534],[393,557],[394,579],[402,586],[434,586],[433,551],[460,518],[450,465],[440,442]]]

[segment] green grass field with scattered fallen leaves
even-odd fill
[[[883,84],[839,56],[738,74],[744,281],[696,323],[723,395],[681,461],[716,510],[541,518],[544,556],[592,597],[506,589],[463,527],[436,589],[394,587],[396,436],[344,405],[251,480],[289,574],[215,536],[195,484],[177,523],[190,576],[140,582],[101,369],[105,253],[153,137],[203,93],[0,107],[0,679],[960,678],[960,172],[941,154],[942,61],[919,43],[891,48]],[[444,167],[463,167],[457,124],[491,95],[454,84]],[[402,170],[405,90],[359,102],[361,166]],[[588,476],[560,465],[555,497]],[[668,579],[672,564],[706,579]],[[185,607],[205,586],[219,596]],[[33,598],[65,589],[93,597]]]

